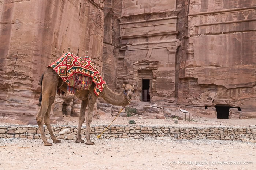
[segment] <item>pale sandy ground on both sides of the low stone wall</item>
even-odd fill
[[[114,116],[93,119],[92,125],[108,125]],[[178,127],[255,127],[256,119],[225,120],[193,117],[179,120],[118,117],[113,125],[170,125]],[[0,117],[0,125],[22,124]],[[65,117],[59,124],[78,125],[78,118]],[[85,125],[85,123],[84,123]],[[93,146],[62,140],[44,146],[42,140],[0,138],[0,169],[86,169],[86,170],[166,170],[166,169],[241,169],[256,165],[256,143],[220,140],[171,140],[169,138],[97,139]],[[51,142],[51,140],[49,140]]]

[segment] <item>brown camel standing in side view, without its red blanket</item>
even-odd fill
[[[61,89],[63,92],[67,92],[67,84],[59,77],[59,75],[50,67],[48,67],[45,72],[41,76],[40,84],[42,86],[42,101],[41,107],[37,113],[36,121],[40,128],[41,138],[46,146],[52,146],[52,143],[48,142],[45,138],[43,121],[47,126],[50,135],[52,137],[53,143],[60,143],[61,140],[57,139],[53,134],[50,125],[50,111],[52,104],[54,102],[57,89]],[[90,87],[90,90],[79,90],[75,95],[82,100],[80,114],[79,114],[79,123],[78,123],[78,132],[76,135],[75,142],[84,143],[84,140],[81,139],[81,127],[85,121],[85,110],[88,107],[88,113],[86,116],[86,144],[93,145],[94,142],[90,139],[90,123],[92,122],[92,111],[94,104],[96,102],[97,97],[102,97],[105,101],[110,104],[118,105],[118,106],[127,106],[132,98],[132,94],[134,93],[133,86],[130,84],[123,84],[122,92],[115,93],[106,85],[104,90],[96,96],[93,91],[94,83]]]

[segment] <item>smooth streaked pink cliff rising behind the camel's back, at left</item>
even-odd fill
[[[68,47],[88,51],[101,70],[103,7],[103,0],[0,2],[0,116],[37,114],[39,77]]]

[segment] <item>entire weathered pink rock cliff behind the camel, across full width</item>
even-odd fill
[[[253,0],[1,1],[0,116],[36,124],[38,80],[71,47],[88,51],[112,90],[134,85],[129,106],[138,114],[158,104],[165,116],[181,108],[217,117],[222,105],[240,108],[240,119],[256,117],[255,9]],[[143,90],[151,103],[141,102]],[[56,97],[52,123],[79,109],[74,96]],[[97,109],[119,112],[101,100]]]

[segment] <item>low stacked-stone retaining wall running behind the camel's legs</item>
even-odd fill
[[[51,138],[46,126],[45,134]],[[91,126],[91,136],[98,136],[107,126]],[[57,138],[74,139],[77,134],[77,126],[52,126],[53,132]],[[65,130],[64,134],[63,131]],[[82,126],[81,135],[85,137],[86,126]],[[71,138],[66,138],[71,135]],[[212,140],[241,140],[244,142],[256,141],[256,128],[251,127],[168,127],[168,126],[141,126],[141,125],[116,125],[111,126],[101,135],[104,139],[114,138],[144,138],[168,137],[171,139],[212,139]],[[41,139],[38,126],[34,125],[4,125],[0,126],[1,138],[27,138]]]

